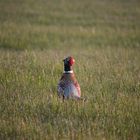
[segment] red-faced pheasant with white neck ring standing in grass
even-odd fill
[[[69,56],[63,60],[64,72],[59,80],[57,91],[58,96],[63,99],[80,99],[81,90],[74,75],[72,65],[75,63],[73,57]]]

